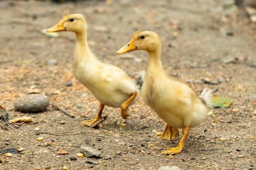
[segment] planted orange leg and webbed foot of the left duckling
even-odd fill
[[[81,126],[89,126],[91,128],[95,127],[96,125],[98,125],[100,128],[103,127],[103,125],[101,124],[104,120],[107,119],[107,117],[102,117],[102,111],[104,108],[104,104],[99,104],[99,111],[96,115],[96,117],[94,119],[91,120],[84,120],[81,122]]]

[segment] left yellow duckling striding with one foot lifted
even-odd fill
[[[121,107],[121,117],[126,119],[127,108],[140,96],[143,72],[135,81],[116,66],[105,64],[92,53],[87,41],[87,22],[81,13],[70,13],[47,29],[47,32],[72,31],[76,33],[73,74],[99,100],[99,111],[92,120],[84,120],[81,125],[96,126],[104,120],[102,110],[105,105]],[[99,124],[102,127],[102,124]]]

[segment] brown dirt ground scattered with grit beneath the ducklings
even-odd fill
[[[42,33],[72,12],[87,17],[90,47],[104,62],[137,77],[147,67],[147,53],[116,55],[116,51],[135,31],[152,29],[162,37],[162,61],[170,76],[198,94],[205,86],[214,88],[215,95],[233,104],[213,108],[213,115],[190,130],[183,152],[173,159],[160,152],[177,146],[181,136],[159,140],[156,132],[164,130],[164,121],[142,99],[130,106],[127,121],[120,117],[120,108],[106,106],[103,128],[79,126],[95,117],[99,102],[72,75],[75,35],[61,32],[53,38]],[[19,128],[0,128],[0,169],[157,170],[164,165],[182,170],[256,169],[256,25],[243,8],[229,0],[1,0],[0,14],[0,105],[10,119],[32,117]],[[49,64],[50,59],[57,65]],[[75,117],[52,105],[42,113],[15,110],[14,99],[31,91],[45,93]],[[101,158],[71,161],[80,146],[99,150]],[[16,152],[18,148],[24,148],[23,154]],[[68,153],[60,155],[60,150]]]

